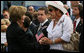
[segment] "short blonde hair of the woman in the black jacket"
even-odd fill
[[[23,6],[11,6],[9,8],[9,14],[11,21],[18,21],[27,11],[26,7]]]

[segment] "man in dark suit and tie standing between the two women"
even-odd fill
[[[38,9],[38,21],[40,22],[40,24],[37,27],[37,32],[40,30],[41,27],[44,28],[42,30],[42,32],[44,33],[44,35],[46,37],[47,37],[46,28],[48,27],[49,23],[51,22],[50,19],[47,19],[47,13],[48,13],[48,10],[46,8],[39,8]]]

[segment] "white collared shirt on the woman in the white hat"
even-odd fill
[[[64,41],[69,42],[71,33],[73,32],[73,23],[71,18],[68,17],[67,15],[63,15],[59,19],[58,23],[54,28],[53,28],[53,24],[54,24],[54,21],[52,20],[47,28],[48,38],[50,38],[52,41],[56,40],[57,38],[61,38]],[[62,47],[62,44],[58,43],[58,44],[50,45],[50,49],[63,50],[63,47]]]

